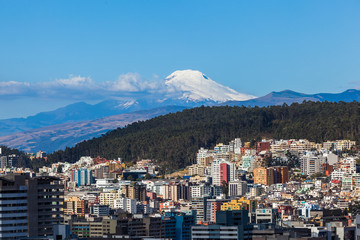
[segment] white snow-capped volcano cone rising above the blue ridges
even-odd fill
[[[223,86],[194,70],[175,71],[166,77],[165,84],[169,90],[182,93],[181,99],[189,101],[225,102],[255,98]]]

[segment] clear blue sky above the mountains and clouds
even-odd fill
[[[59,81],[129,73],[155,81],[196,69],[255,96],[357,88],[359,12],[359,1],[1,0],[0,118],[91,101],[47,94]]]

